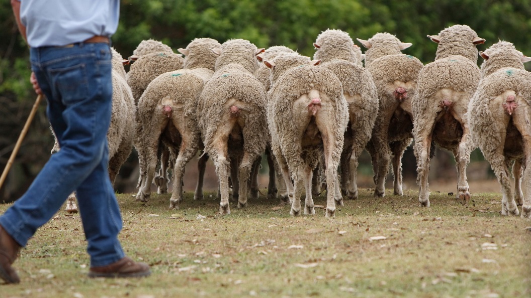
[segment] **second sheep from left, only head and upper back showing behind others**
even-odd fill
[[[127,84],[131,86],[135,102],[138,102],[142,93],[154,78],[160,74],[183,68],[184,59],[181,54],[175,54],[170,47],[161,42],[152,41],[148,43],[148,45],[152,44],[156,46],[146,47],[144,41],[139,44],[135,50],[136,54],[133,55],[138,57],[138,59],[127,72]],[[141,50],[138,50],[139,48]]]

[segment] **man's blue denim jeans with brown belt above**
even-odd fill
[[[107,172],[113,93],[110,59],[106,43],[31,48],[31,68],[46,95],[48,118],[61,150],[0,217],[0,225],[26,246],[75,190],[92,267],[124,257],[117,238],[122,217]]]

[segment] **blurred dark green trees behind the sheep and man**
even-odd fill
[[[530,16],[531,0],[122,0],[113,46],[128,57],[144,39],[160,40],[176,50],[194,38],[220,42],[243,38],[259,48],[284,45],[311,57],[312,43],[321,31],[341,29],[354,40],[369,39],[377,32],[395,34],[401,41],[413,43],[405,54],[426,64],[436,50],[436,43],[426,35],[454,24],[467,24],[486,39],[479,50],[502,39],[531,55],[531,39],[526,38]],[[29,50],[16,29],[8,1],[0,2],[0,24],[0,168],[4,169],[36,95],[29,83]],[[481,63],[480,58],[478,65]],[[0,190],[0,202],[16,199],[25,191],[48,160],[52,146],[42,103]],[[441,166],[436,168],[445,170],[446,164],[446,170],[455,176],[452,158],[444,152],[439,156]],[[411,149],[405,159],[404,175],[414,177]],[[476,150],[472,159],[481,160],[481,152]],[[372,175],[370,166],[367,169]],[[433,172],[431,177],[437,177]]]

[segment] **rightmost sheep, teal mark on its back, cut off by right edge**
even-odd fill
[[[502,215],[531,218],[531,73],[524,56],[512,43],[499,41],[479,53],[485,60],[482,78],[468,108],[470,134],[491,164],[501,186]],[[515,191],[511,191],[509,166]],[[524,188],[521,174],[524,170]],[[515,201],[516,197],[516,201]]]

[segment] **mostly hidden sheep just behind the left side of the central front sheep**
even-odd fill
[[[279,55],[296,53],[296,51],[285,46],[272,46],[265,49],[263,53],[258,54],[256,58],[263,62],[263,60],[272,60],[273,58]],[[269,67],[267,67],[263,63],[260,64],[259,68],[256,69],[256,72],[254,73],[254,76],[258,79],[258,81],[260,81],[264,85],[265,91],[269,91],[269,89],[271,89],[270,73],[271,70],[269,69]],[[273,156],[273,153],[271,151],[271,136],[268,137],[268,145],[265,147],[265,154],[267,156],[267,161],[269,165],[268,197],[276,198],[278,195],[281,201],[287,201],[288,191],[286,188],[286,184],[284,183],[284,178],[282,178],[282,174],[278,171],[279,165],[277,163],[277,159],[275,158],[275,156]]]

